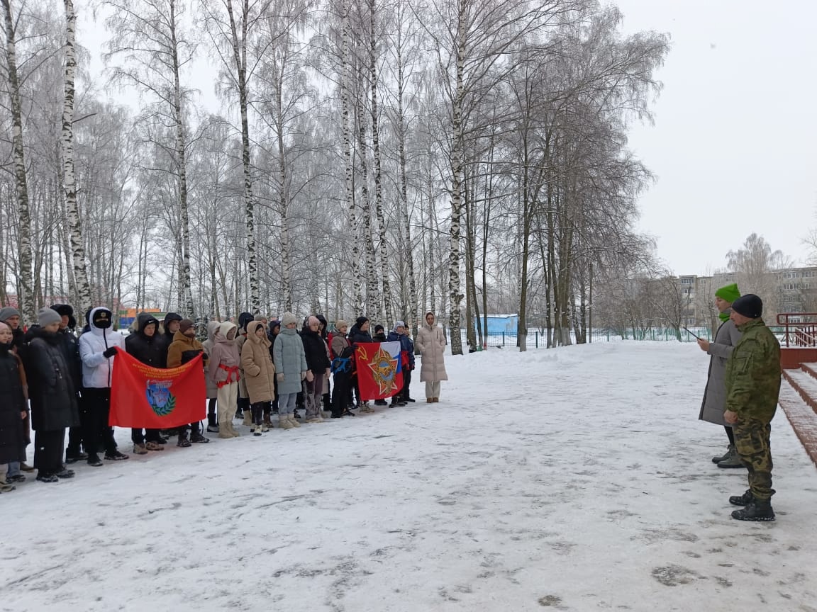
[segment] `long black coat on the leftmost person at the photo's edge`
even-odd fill
[[[25,427],[20,412],[28,410],[20,379],[20,361],[11,344],[0,344],[0,463],[25,460]]]

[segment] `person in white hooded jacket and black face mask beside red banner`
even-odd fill
[[[96,454],[100,438],[105,446],[105,459],[127,459],[127,455],[116,450],[114,428],[108,425],[114,359],[117,349],[125,348],[123,335],[111,331],[113,324],[114,314],[108,308],[92,308],[88,314],[89,331],[79,336],[79,356],[83,360],[83,410],[88,415],[83,440],[87,441],[88,465],[94,467],[102,465]]]

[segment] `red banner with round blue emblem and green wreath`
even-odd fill
[[[154,368],[122,350],[114,359],[109,425],[169,429],[207,416],[202,356],[177,368]]]

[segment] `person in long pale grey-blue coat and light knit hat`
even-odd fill
[[[292,313],[283,313],[283,329],[275,339],[273,361],[275,378],[278,379],[278,421],[282,429],[301,427],[295,420],[295,401],[301,390],[301,381],[306,379],[306,354],[301,336],[295,327],[298,322]]]

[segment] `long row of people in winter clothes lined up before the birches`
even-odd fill
[[[109,426],[113,363],[125,351],[145,365],[176,368],[202,355],[207,385],[207,432],[219,438],[239,437],[234,419],[241,419],[255,436],[277,425],[281,429],[323,423],[325,418],[373,412],[360,396],[355,347],[362,343],[399,342],[403,384],[391,394],[392,406],[405,406],[410,395],[415,348],[422,355],[420,379],[426,383],[426,402],[440,400],[440,381],[447,380],[444,331],[434,313],[426,313],[416,344],[408,326],[395,323],[386,335],[383,326],[369,331],[368,317],[328,322],[310,315],[298,330],[292,313],[268,321],[242,313],[238,324],[209,322],[207,339],[199,342],[194,322],[167,313],[162,322],[150,313],[136,317],[130,335],[113,329],[108,308],[92,308],[77,333],[74,308],[56,304],[38,313],[37,324],[21,325],[16,308],[0,309],[0,493],[15,490],[26,480],[23,472],[37,471],[36,479],[57,482],[74,477],[68,466],[78,461],[100,467],[100,454],[109,461],[128,459],[118,450]],[[330,385],[330,379],[332,383]],[[386,405],[386,399],[374,405]],[[304,410],[299,415],[297,410]],[[26,447],[34,431],[33,466]],[[68,431],[68,444],[65,433]],[[145,455],[163,450],[170,437],[176,446],[210,441],[199,423],[173,431],[132,428],[133,452]]]

